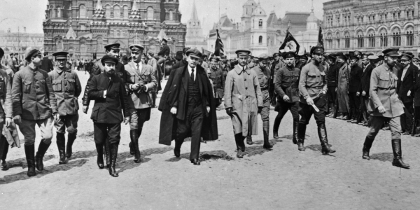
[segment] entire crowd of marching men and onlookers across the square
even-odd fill
[[[258,115],[262,120],[262,147],[272,149],[270,132],[279,139],[281,120],[290,111],[292,142],[298,151],[305,151],[306,129],[313,115],[321,153],[336,152],[328,144],[325,125],[325,117],[331,117],[370,127],[362,149],[366,160],[379,130],[391,130],[393,165],[409,168],[402,161],[401,134],[415,134],[420,106],[419,59],[412,53],[390,48],[382,55],[359,51],[326,55],[323,46],[315,46],[304,55],[279,50],[258,57],[250,50],[239,49],[237,57],[227,59],[184,48],[176,52],[177,62],[168,73],[160,104],[156,104],[170,59],[166,43],[163,39],[157,55],[151,50],[145,52],[142,45],[130,45],[129,57],[120,56],[120,45],[112,43],[105,46],[106,55],[97,61],[77,62],[69,60],[69,52],[53,53],[52,61],[48,52],[42,57],[34,49],[25,55],[27,64],[19,71],[1,66],[2,169],[8,169],[8,148],[20,147],[16,125],[25,138],[28,176],[35,176],[36,169],[43,170],[53,126],[59,164],[66,164],[77,138],[80,95],[83,113],[94,102],[90,118],[97,165],[99,169],[107,167],[114,177],[118,176],[121,123],[130,123],[130,153],[139,163],[139,138],[154,108],[162,112],[159,143],[170,146],[174,141],[174,155],[179,158],[183,141],[191,137],[190,161],[194,165],[200,165],[201,143],[218,139],[216,111],[225,109],[232,120],[237,158],[244,157],[245,142],[252,145],[252,136],[258,134]],[[3,55],[0,48],[0,59]],[[76,70],[90,73],[85,92]],[[277,112],[272,130],[271,106]],[[36,125],[41,129],[41,141],[35,152]]]

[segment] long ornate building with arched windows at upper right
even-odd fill
[[[339,0],[323,3],[326,52],[419,52],[419,1]]]

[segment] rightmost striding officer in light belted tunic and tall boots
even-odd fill
[[[408,169],[409,165],[402,162],[401,152],[401,124],[400,116],[404,114],[404,105],[398,98],[396,91],[398,77],[395,63],[398,59],[398,48],[388,48],[384,53],[384,64],[372,70],[370,76],[370,103],[367,110],[370,112],[370,131],[363,144],[362,158],[370,160],[369,152],[374,137],[381,130],[385,122],[391,128],[391,144],[393,151],[392,165]]]

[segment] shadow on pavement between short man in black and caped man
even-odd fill
[[[125,170],[132,169],[134,167],[139,167],[142,163],[146,163],[149,160],[151,160],[151,158],[146,158],[147,156],[150,156],[153,154],[163,154],[172,150],[174,150],[174,148],[170,146],[166,146],[166,147],[160,147],[160,148],[149,148],[144,151],[140,151],[141,162],[139,163],[134,162],[134,155],[131,155],[130,152],[118,153],[116,168],[119,170],[117,172],[118,174],[120,174],[121,172],[124,172]],[[127,160],[129,158],[130,160]]]

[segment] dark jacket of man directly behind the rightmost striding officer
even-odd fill
[[[404,104],[412,103],[414,97],[414,82],[416,81],[419,69],[417,68],[417,66],[410,63],[404,78],[402,78],[403,70],[404,67],[401,67],[401,69],[398,70],[398,97],[400,97],[402,103]],[[407,96],[408,91],[411,91],[410,96]]]

